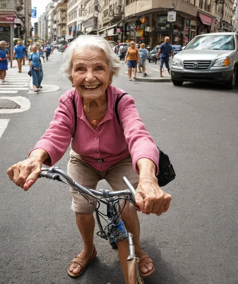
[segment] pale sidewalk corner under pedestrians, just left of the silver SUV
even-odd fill
[[[126,64],[121,67],[125,73],[128,71],[128,67]],[[125,70],[124,70],[125,69]],[[138,71],[138,70],[137,70]],[[155,64],[155,63],[149,63],[147,61],[146,63],[146,74],[147,76],[145,78],[142,77],[142,73],[137,72],[137,77],[136,81],[141,81],[141,82],[160,82],[160,83],[165,83],[165,82],[172,82],[171,76],[168,73],[167,69],[164,67],[163,69],[163,77],[160,77],[160,64]]]

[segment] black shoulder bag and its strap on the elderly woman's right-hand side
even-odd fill
[[[122,97],[124,95],[128,95],[128,93],[122,94],[120,97],[119,95],[117,96],[117,99],[115,101],[115,115],[117,118],[118,123],[121,125],[120,118],[118,115],[117,107],[118,103],[121,101]],[[157,146],[159,154],[160,154],[160,159],[159,159],[159,173],[156,176],[158,178],[158,184],[160,187],[165,186],[169,182],[175,179],[175,171],[174,168],[170,162],[169,156],[166,155],[163,151],[160,150],[160,148]]]

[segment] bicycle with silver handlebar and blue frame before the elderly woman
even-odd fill
[[[62,176],[65,180],[63,181],[60,176]],[[63,182],[65,184],[70,185],[74,188],[79,194],[82,194],[89,203],[95,209],[96,214],[96,221],[99,227],[99,231],[97,235],[101,238],[109,240],[110,245],[112,248],[118,248],[117,242],[121,240],[128,239],[128,246],[129,246],[129,257],[127,259],[128,264],[128,274],[129,274],[129,284],[144,284],[144,280],[140,275],[139,272],[139,258],[135,254],[135,247],[133,244],[133,235],[130,232],[127,232],[126,227],[123,223],[123,220],[120,218],[121,213],[126,205],[121,209],[120,200],[128,200],[135,205],[135,194],[136,191],[130,181],[123,177],[125,184],[128,186],[129,189],[121,190],[121,191],[109,191],[100,189],[99,191],[86,188],[79,183],[75,182],[72,178],[70,178],[64,171],[62,171],[58,167],[50,167],[50,168],[42,168],[39,178],[46,177],[53,180],[57,180]],[[94,197],[97,199],[97,206],[95,206],[88,196]],[[100,203],[106,205],[106,215],[101,213],[98,209],[100,207]],[[100,217],[106,220],[104,216],[107,216],[108,222],[105,228],[103,229]],[[124,247],[122,248],[124,249]]]

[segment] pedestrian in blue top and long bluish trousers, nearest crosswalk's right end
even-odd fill
[[[28,62],[32,73],[34,92],[42,88],[43,70],[40,55],[40,52],[37,51],[37,46],[32,46],[32,53],[29,55]]]

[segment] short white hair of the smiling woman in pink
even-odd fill
[[[67,78],[72,75],[73,54],[82,51],[84,48],[101,49],[107,57],[112,76],[118,74],[120,70],[118,56],[112,51],[110,44],[100,36],[83,35],[73,40],[66,48],[60,68],[61,75]]]

